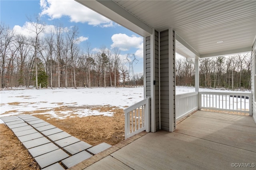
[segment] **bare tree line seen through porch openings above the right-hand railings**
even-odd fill
[[[194,59],[176,59],[176,85],[195,86]],[[200,59],[199,86],[251,89],[250,53]]]

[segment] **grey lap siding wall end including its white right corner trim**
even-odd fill
[[[171,34],[169,36],[169,34]],[[171,40],[169,40],[171,39]],[[160,111],[161,129],[172,131],[170,127],[175,121],[175,55],[174,32],[165,30],[160,32]],[[169,44],[170,43],[170,44]],[[170,48],[170,49],[169,49]],[[169,53],[172,53],[169,55]],[[173,119],[170,117],[173,117]],[[171,118],[171,119],[170,119]]]

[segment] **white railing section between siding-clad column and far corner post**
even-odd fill
[[[198,109],[198,92],[178,94],[175,96],[176,121]]]

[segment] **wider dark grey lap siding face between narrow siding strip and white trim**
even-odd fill
[[[169,49],[168,30],[160,32],[160,110],[161,129],[169,131]]]

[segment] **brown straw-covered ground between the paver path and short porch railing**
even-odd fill
[[[93,146],[102,142],[114,145],[124,140],[124,110],[112,106],[93,109],[102,112],[110,111],[114,114],[112,117],[103,115],[78,117],[73,112],[66,119],[51,118],[50,115],[44,114],[33,115]]]

